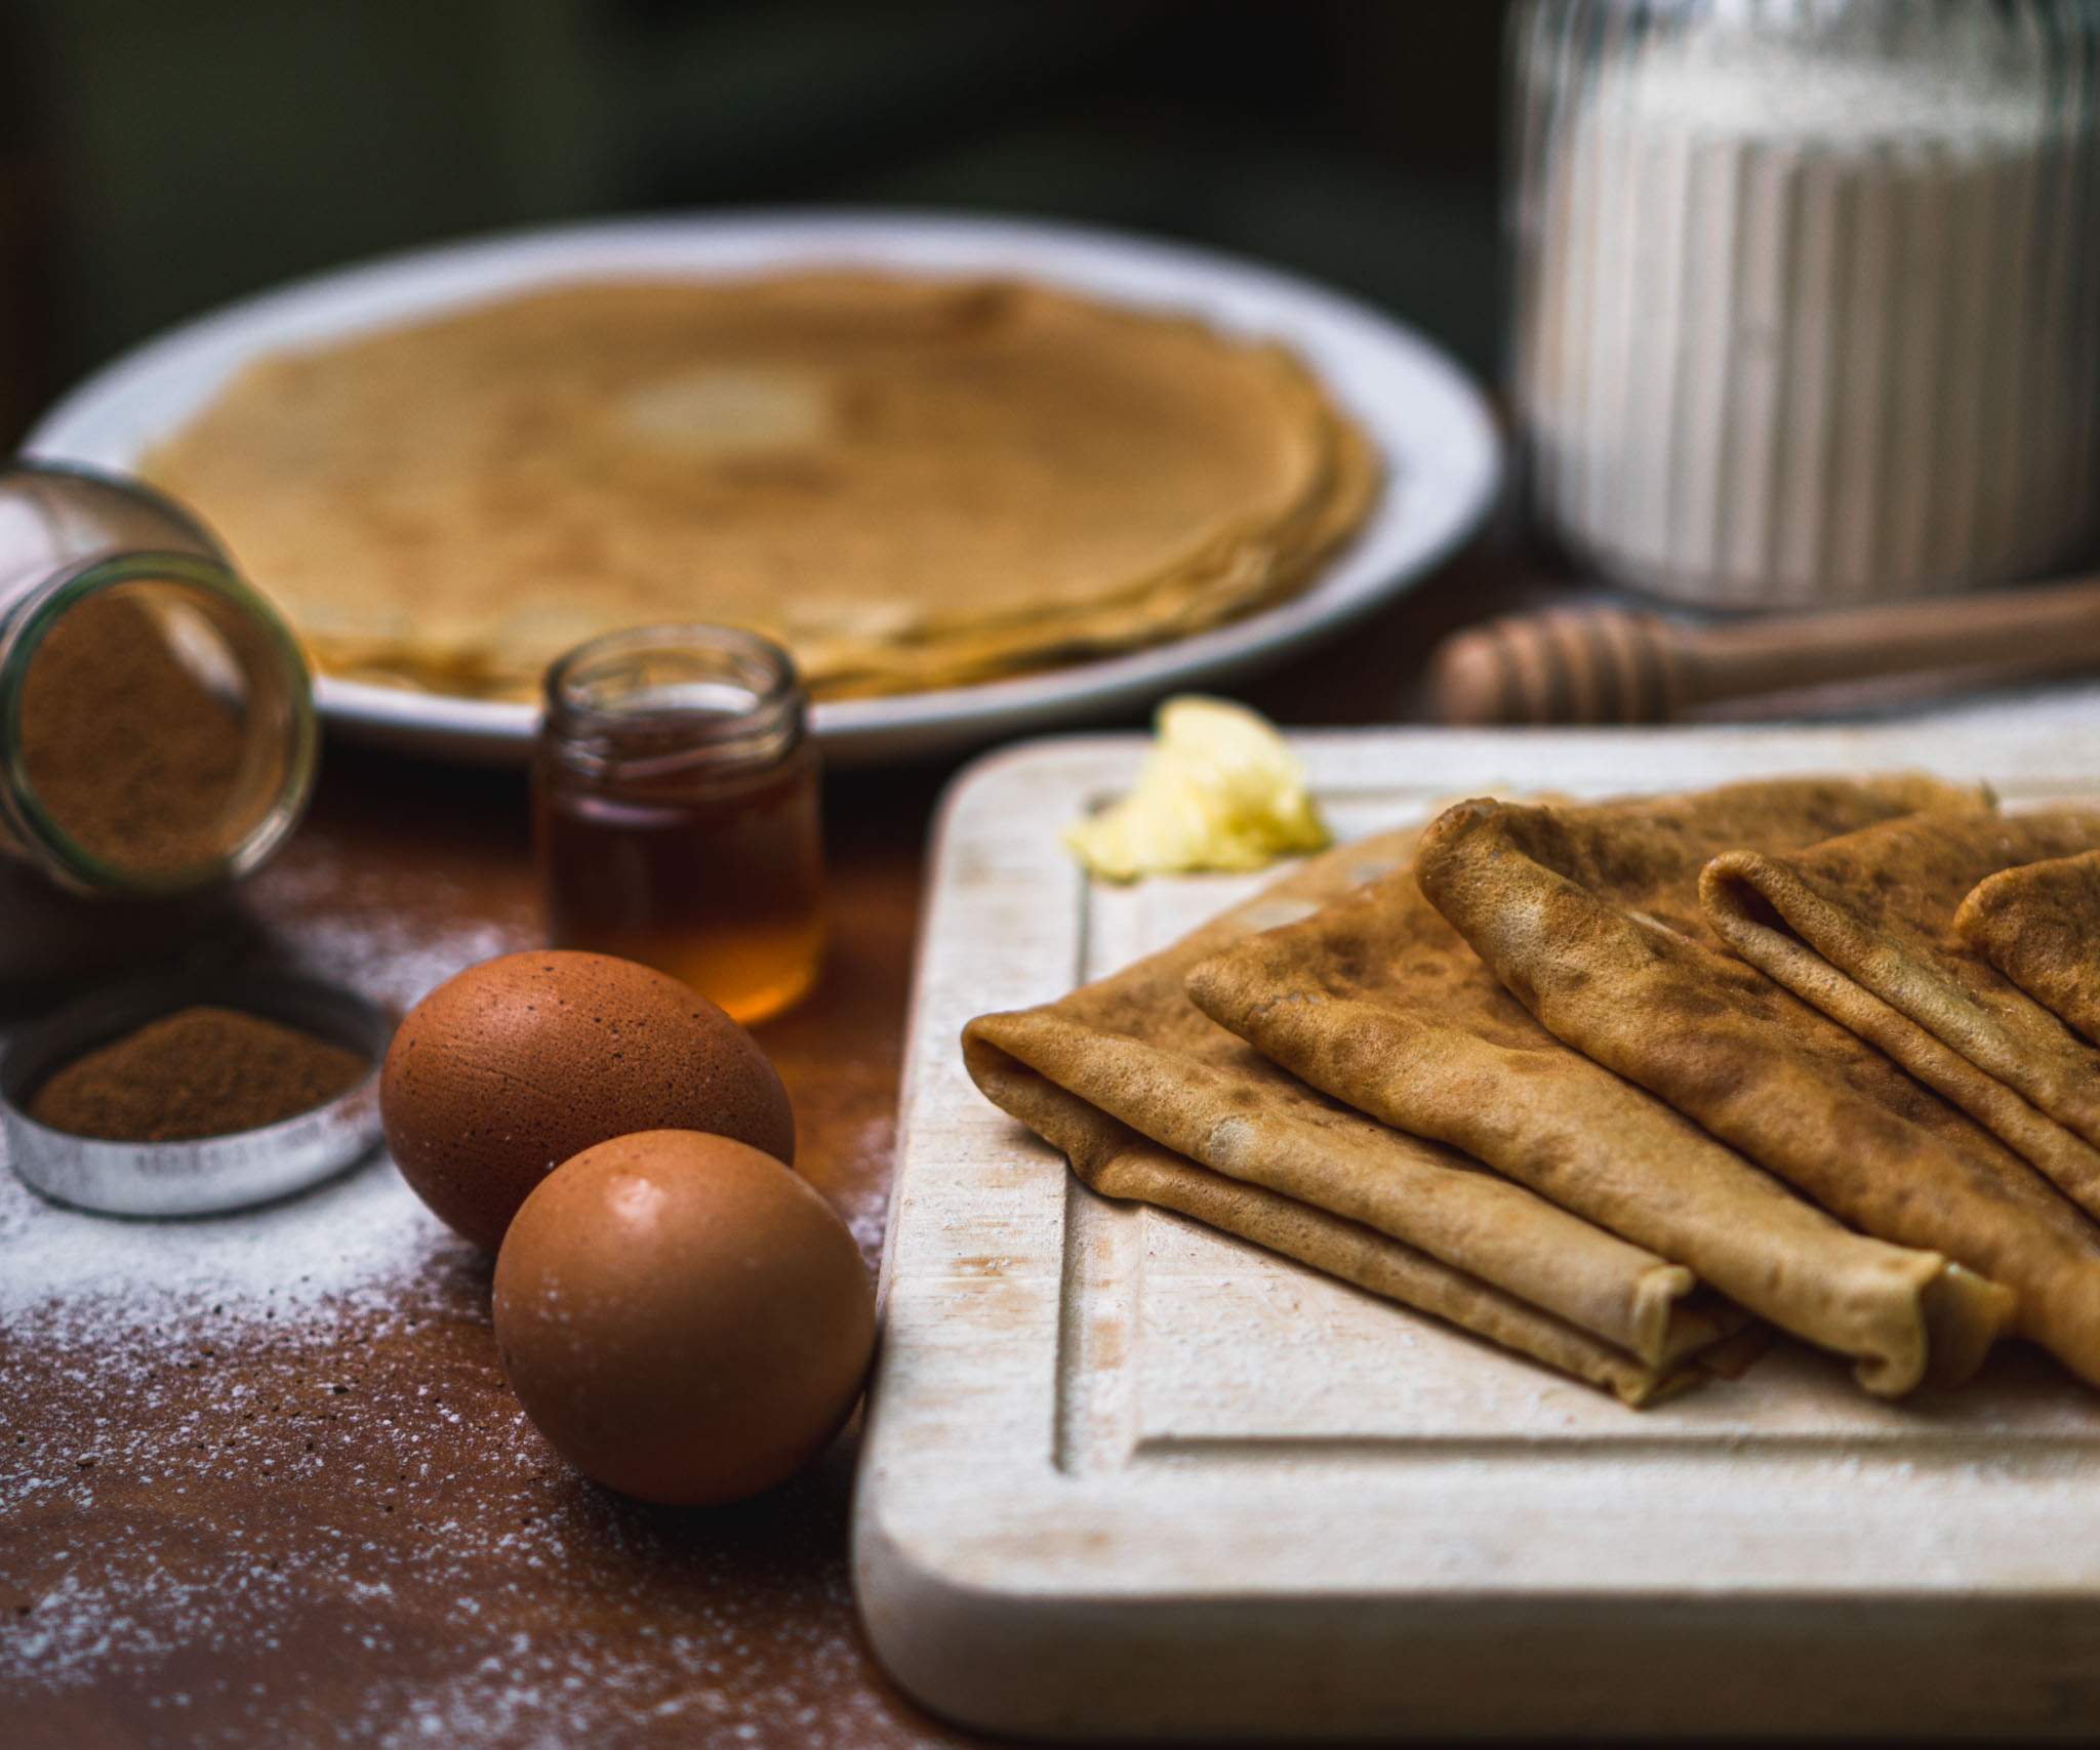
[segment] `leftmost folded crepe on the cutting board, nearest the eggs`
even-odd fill
[[[1189,966],[1405,861],[1386,834],[1300,866],[1172,947],[964,1029],[979,1088],[1111,1197],[1191,1214],[1648,1403],[1743,1317],[1682,1265],[1306,1088],[1182,994]]]

